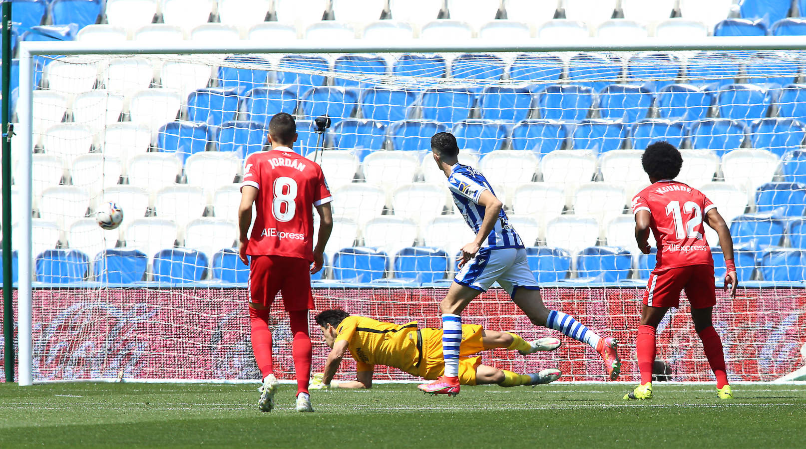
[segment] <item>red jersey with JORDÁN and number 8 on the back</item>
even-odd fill
[[[285,147],[251,154],[243,186],[257,187],[250,256],[314,261],[314,206],[332,200],[322,167]]]

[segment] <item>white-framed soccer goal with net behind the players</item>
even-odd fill
[[[546,304],[634,341],[654,254],[633,237],[640,156],[667,140],[679,180],[730,220],[741,288],[731,301],[714,233],[716,327],[732,381],[772,381],[804,365],[806,45],[801,39],[646,43],[20,43],[14,138],[19,383],[256,381],[247,267],[237,259],[244,158],[278,112],[297,117],[295,150],[322,164],[334,194],[318,310],[440,327],[438,301],[472,233],[430,156],[451,131],[460,161],[494,184],[529,246]],[[230,45],[230,44],[227,44]],[[328,116],[331,126],[319,126]],[[123,224],[96,212],[112,202]],[[710,229],[708,229],[710,230]],[[687,304],[685,301],[682,304]],[[494,288],[467,323],[535,328]],[[293,377],[287,315],[272,309],[276,372]],[[326,347],[311,320],[314,372]],[[712,373],[688,305],[658,332],[659,375]],[[563,347],[484,363],[563,381],[605,381],[596,352]],[[351,371],[352,370],[352,371]],[[339,378],[354,375],[346,363]],[[379,379],[410,380],[397,370]]]

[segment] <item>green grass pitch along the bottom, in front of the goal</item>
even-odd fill
[[[804,447],[806,386],[627,384],[464,388],[428,397],[411,384],[314,391],[293,410],[281,385],[272,413],[256,385],[0,384],[0,447]]]

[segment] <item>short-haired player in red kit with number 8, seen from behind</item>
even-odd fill
[[[324,251],[333,218],[330,191],[322,167],[292,150],[297,142],[297,124],[287,113],[278,113],[268,123],[268,151],[247,158],[238,209],[239,256],[249,265],[249,318],[255,360],[263,374],[258,407],[271,411],[277,379],[272,368],[272,331],[268,311],[278,292],[283,294],[293,333],[294,371],[297,373],[297,410],[310,406],[311,344],[308,310],[314,307],[310,275],[322,270]],[[251,236],[252,204],[256,217]],[[319,231],[314,248],[313,209],[319,213]],[[251,263],[247,260],[251,256]]]

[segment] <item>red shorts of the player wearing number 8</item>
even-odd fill
[[[285,311],[314,308],[310,290],[310,262],[300,257],[251,256],[249,302],[272,307],[278,292]]]

